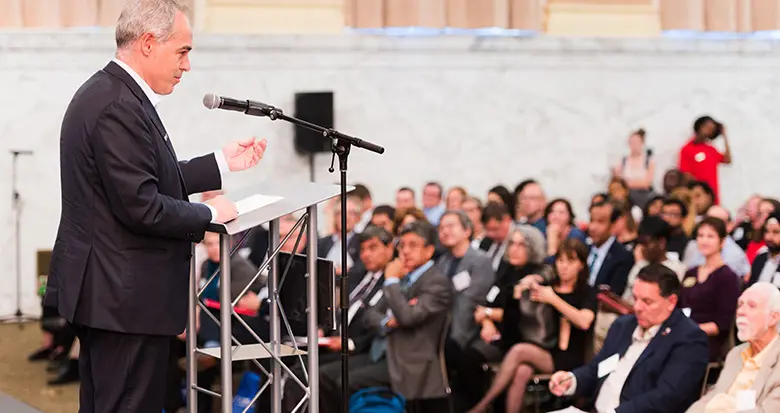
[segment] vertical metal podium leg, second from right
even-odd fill
[[[274,219],[268,223],[268,249],[276,251],[279,246],[279,219]],[[271,330],[271,353],[279,357],[282,342],[281,317],[279,314],[279,260],[276,255],[271,258],[271,268],[268,273],[268,296],[270,302],[270,330]],[[282,367],[276,358],[271,359],[271,413],[282,413]]]

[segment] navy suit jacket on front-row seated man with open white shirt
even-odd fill
[[[610,327],[604,347],[583,367],[574,370],[575,394],[595,403],[606,377],[598,378],[599,363],[623,357],[637,327],[634,315],[618,318]],[[661,325],[634,364],[620,394],[616,413],[682,413],[699,398],[708,362],[707,335],[675,309]]]

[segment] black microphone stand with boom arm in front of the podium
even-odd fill
[[[271,120],[281,119],[295,125],[304,127],[306,129],[313,130],[315,132],[322,133],[323,139],[331,139],[331,157],[330,168],[328,172],[333,173],[333,163],[336,156],[339,158],[339,172],[341,175],[341,408],[343,413],[347,413],[349,410],[349,337],[347,334],[347,324],[349,323],[349,285],[347,283],[347,271],[343,268],[343,264],[347,262],[347,161],[349,158],[350,150],[353,146],[363,148],[368,151],[382,154],[385,152],[385,148],[375,145],[371,142],[364,141],[354,136],[345,135],[334,129],[325,128],[316,125],[305,120],[297,119],[291,116],[285,115],[281,109],[277,109],[273,106],[252,106],[245,112],[247,114],[268,116]],[[318,403],[318,400],[312,400],[312,403]]]

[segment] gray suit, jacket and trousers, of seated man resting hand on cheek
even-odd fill
[[[363,315],[362,322],[375,333],[375,339],[368,354],[350,361],[350,393],[366,387],[390,387],[407,400],[444,397],[439,346],[452,306],[450,280],[430,261],[430,268],[405,291],[400,282],[385,282],[382,298]],[[398,327],[383,336],[382,322],[388,309]],[[382,348],[382,342],[386,348],[374,359],[374,348]],[[321,376],[322,411],[340,411],[341,365],[323,368]]]

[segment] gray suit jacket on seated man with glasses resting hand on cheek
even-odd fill
[[[383,288],[384,296],[366,312],[364,323],[378,333],[387,309],[398,328],[387,335],[387,369],[393,391],[408,400],[446,396],[439,346],[452,306],[452,283],[436,266],[405,292],[399,283]],[[415,298],[416,302],[410,301]]]

